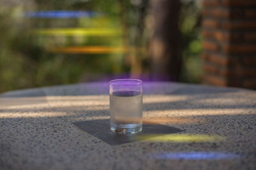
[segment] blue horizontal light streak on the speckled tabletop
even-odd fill
[[[155,153],[154,159],[186,159],[186,160],[218,160],[218,159],[236,159],[239,154],[221,153],[221,152],[171,152],[171,153]]]

